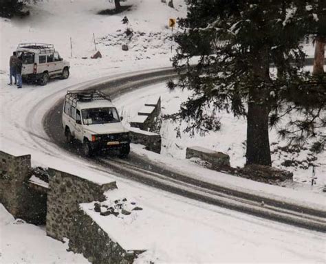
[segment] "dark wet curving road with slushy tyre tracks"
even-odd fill
[[[81,85],[80,89],[100,89],[111,96],[111,98],[115,98],[140,87],[160,83],[173,77],[175,77],[174,70],[165,68],[153,72],[120,77],[96,85]],[[80,156],[81,146],[79,144],[65,144],[61,125],[62,105],[63,98],[47,112],[43,120],[44,129],[60,148],[70,151],[72,155]],[[258,217],[281,221],[310,230],[326,232],[325,211],[296,206],[292,203],[285,203],[276,199],[266,199],[258,195],[225,188],[224,186],[208,184],[207,182],[193,179],[187,175],[176,173],[169,166],[162,166],[161,164],[155,164],[146,160],[144,157],[133,153],[132,149],[127,159],[103,156],[87,159],[87,162],[93,162],[96,166],[105,166],[103,169],[110,170],[110,172],[119,177],[127,177],[178,195],[232,210],[246,212]],[[264,201],[263,206],[261,205],[261,201]]]

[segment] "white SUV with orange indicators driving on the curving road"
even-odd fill
[[[129,131],[121,124],[111,99],[100,91],[67,91],[63,104],[63,131],[67,143],[78,140],[83,153],[118,149],[121,157],[130,152]]]

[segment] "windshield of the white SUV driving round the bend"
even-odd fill
[[[116,108],[91,108],[83,109],[82,117],[84,124],[107,124],[120,122]]]

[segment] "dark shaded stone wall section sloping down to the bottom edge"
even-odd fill
[[[69,249],[83,253],[85,258],[94,264],[130,264],[137,253],[140,253],[126,252],[82,209],[74,214]]]

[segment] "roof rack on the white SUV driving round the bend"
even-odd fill
[[[111,102],[111,98],[106,94],[102,93],[102,91],[98,90],[77,90],[77,91],[67,91],[65,96],[65,100],[70,102],[73,106],[76,107],[77,102],[91,102],[94,100],[108,100]]]

